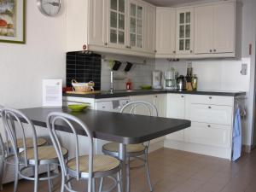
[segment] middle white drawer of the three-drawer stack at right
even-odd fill
[[[191,104],[190,120],[201,123],[232,125],[232,107]]]

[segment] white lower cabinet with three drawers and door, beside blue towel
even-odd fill
[[[166,136],[165,147],[231,158],[234,97],[168,94],[167,117],[191,127]]]

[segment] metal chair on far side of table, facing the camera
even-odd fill
[[[120,113],[130,113],[130,114],[136,114],[136,110],[139,108],[143,108],[146,110],[146,113],[150,116],[158,116],[158,111],[157,108],[151,104],[150,102],[144,102],[144,101],[134,101],[134,102],[129,102],[127,103],[122,109]],[[120,127],[121,129],[121,127]],[[134,168],[141,168],[144,167],[146,168],[147,172],[147,178],[148,178],[148,186],[150,191],[153,191],[153,187],[151,184],[151,179],[150,179],[150,172],[148,168],[148,147],[149,147],[149,141],[146,143],[139,143],[139,144],[128,144],[126,145],[126,163],[127,166],[130,167],[127,170],[127,176],[128,176],[128,188],[127,191],[130,191],[130,169]],[[107,143],[102,146],[102,152],[104,154],[111,155],[113,157],[119,158],[119,143]],[[141,157],[143,155],[143,157]],[[135,158],[137,160],[142,160],[143,165],[142,166],[136,166],[136,167],[131,167],[130,166],[130,160],[131,158]]]

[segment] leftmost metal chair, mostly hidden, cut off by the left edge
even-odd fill
[[[2,109],[3,106],[0,105],[0,119],[2,118]],[[12,124],[14,124],[14,122],[12,122]],[[11,143],[10,140],[8,138],[8,134],[6,131],[3,131],[4,133],[4,137],[6,138],[7,142],[4,143],[3,142],[3,137],[2,134],[0,133],[0,148],[1,148],[1,162],[0,162],[0,190],[3,190],[3,172],[4,172],[4,167],[5,165],[10,165],[10,166],[15,166],[14,162],[10,162],[7,161],[7,156],[9,156],[9,154],[12,153],[11,150]],[[38,146],[43,146],[47,144],[46,139],[44,139],[43,137],[38,137]],[[19,151],[23,150],[23,143],[22,143],[22,138],[18,138],[17,139],[17,148],[19,148]],[[26,138],[26,146],[27,148],[32,148],[32,138],[31,137],[27,137]],[[7,155],[8,154],[8,155]]]

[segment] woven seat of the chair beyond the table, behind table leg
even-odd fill
[[[119,152],[119,143],[107,143],[102,148],[106,151]],[[143,143],[126,145],[126,153],[143,152],[145,149]]]

